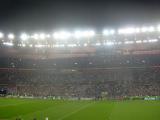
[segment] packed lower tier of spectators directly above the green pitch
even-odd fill
[[[8,93],[20,96],[101,98],[159,96],[160,70],[20,71],[9,73]],[[6,83],[7,84],[7,83]]]

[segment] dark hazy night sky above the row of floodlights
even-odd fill
[[[0,30],[102,30],[158,23],[158,0],[0,0]]]

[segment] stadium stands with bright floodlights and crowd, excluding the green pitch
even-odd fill
[[[160,96],[160,26],[0,33],[1,95]]]

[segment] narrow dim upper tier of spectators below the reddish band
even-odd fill
[[[159,55],[94,55],[61,59],[0,58],[0,68],[71,69],[160,65]]]

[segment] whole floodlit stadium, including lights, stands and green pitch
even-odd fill
[[[0,32],[1,120],[159,120],[160,26]]]

